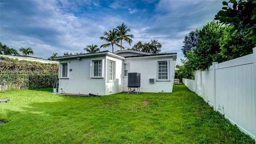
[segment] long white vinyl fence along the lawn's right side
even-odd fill
[[[195,72],[183,83],[204,98],[214,110],[256,140],[256,48],[253,54]]]

